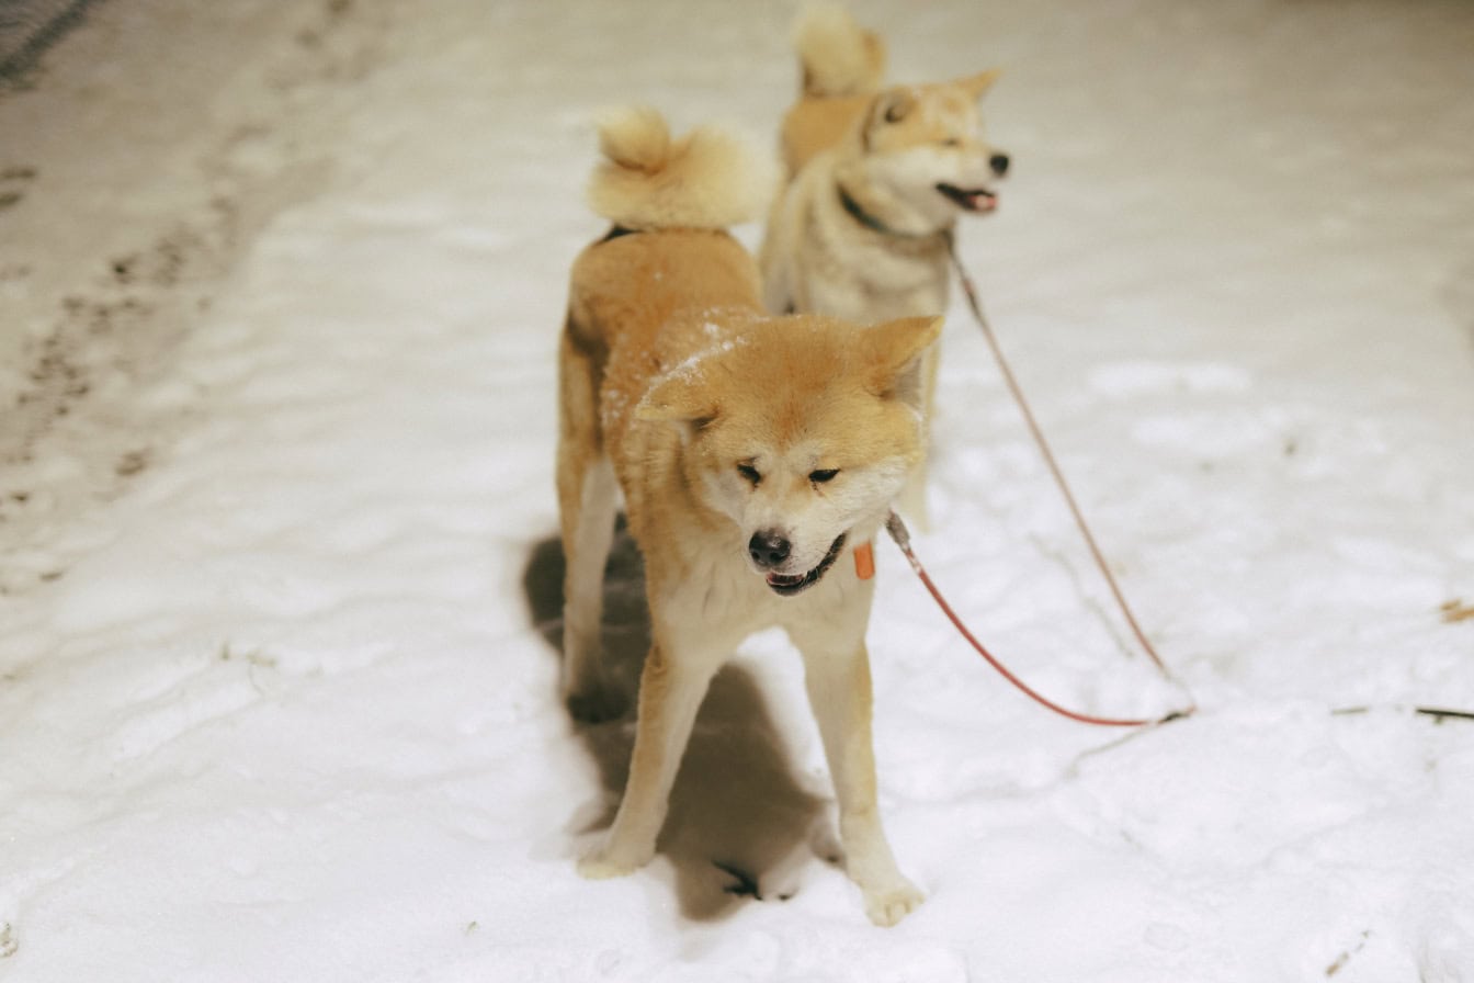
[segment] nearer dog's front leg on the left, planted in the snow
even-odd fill
[[[625,796],[603,846],[579,861],[578,872],[584,877],[622,877],[654,856],[696,712],[722,660],[718,650],[690,644],[674,648],[659,637],[650,646],[640,675],[635,747]]]

